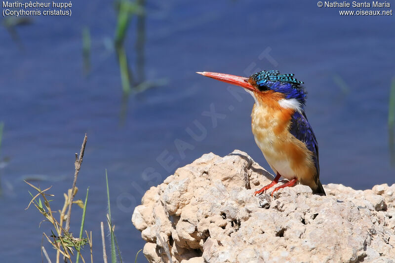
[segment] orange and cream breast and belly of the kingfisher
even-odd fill
[[[290,132],[293,109],[282,108],[281,94],[255,94],[257,104],[251,113],[255,142],[275,173],[284,178],[298,179],[303,185],[315,187],[316,167],[312,152]]]

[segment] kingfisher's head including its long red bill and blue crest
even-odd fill
[[[294,105],[303,109],[306,103],[306,91],[301,86],[302,81],[293,77],[293,74],[281,74],[279,71],[260,71],[250,77],[241,77],[214,72],[197,72],[223,82],[243,87],[251,93],[256,102],[257,98],[276,98],[284,105]]]

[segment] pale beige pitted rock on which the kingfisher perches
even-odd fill
[[[151,263],[395,262],[395,184],[253,192],[273,176],[245,152],[204,154],[150,188],[132,222]],[[281,184],[281,183],[280,183]]]

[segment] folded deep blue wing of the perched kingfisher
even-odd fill
[[[319,178],[318,144],[316,135],[314,135],[313,129],[304,112],[299,113],[296,111],[293,113],[289,131],[296,139],[303,142],[307,149],[313,152],[313,160],[317,169],[317,178]]]

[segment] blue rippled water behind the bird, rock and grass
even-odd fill
[[[76,1],[71,18],[34,18],[16,28],[23,49],[0,28],[0,158],[9,158],[0,164],[4,262],[40,261],[41,233],[48,225],[38,228],[37,211],[24,210],[30,198],[23,179],[52,185],[53,206],[60,209],[85,132],[78,198],[89,186],[85,228],[93,231],[98,261],[106,168],[126,262],[144,244],[130,222],[134,206],[175,167],[210,151],[226,155],[239,149],[269,169],[251,133],[253,99],[234,96],[226,84],[196,71],[295,73],[309,92],[307,115],[319,144],[322,183],[358,189],[395,183],[387,126],[395,76],[393,16],[339,16],[336,8],[308,1],[148,1],[146,8],[144,51],[135,48],[135,20],[125,50],[134,72],[140,69],[139,76],[162,84],[131,95],[127,103],[108,44],[116,26],[112,3]],[[92,40],[88,75],[82,69],[84,26]],[[221,114],[214,121],[205,113],[213,111]],[[198,140],[187,129],[198,133],[197,123],[206,131]],[[180,143],[187,149],[179,152]],[[72,216],[78,223],[77,207]],[[72,229],[77,233],[79,226]]]

